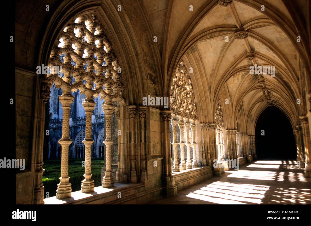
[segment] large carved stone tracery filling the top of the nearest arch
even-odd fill
[[[55,71],[62,66],[62,71]],[[104,27],[91,13],[78,17],[60,32],[51,51],[48,75],[63,93],[80,90],[86,98],[105,99],[104,104],[123,100],[121,68]],[[57,74],[58,73],[58,74]]]

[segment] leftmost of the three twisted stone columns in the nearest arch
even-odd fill
[[[69,183],[68,176],[68,147],[72,143],[69,138],[69,116],[70,116],[70,105],[73,102],[74,97],[70,92],[63,93],[59,97],[59,101],[62,103],[63,108],[63,131],[62,138],[58,141],[62,146],[62,160],[61,160],[61,177],[60,182],[57,185],[56,198],[63,199],[71,197],[71,184]]]

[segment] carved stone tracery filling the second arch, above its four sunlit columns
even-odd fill
[[[173,78],[170,91],[170,106],[175,115],[198,120],[192,82],[183,61],[177,66]]]

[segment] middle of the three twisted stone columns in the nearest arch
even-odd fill
[[[95,108],[95,101],[93,98],[86,98],[82,102],[85,110],[85,138],[82,141],[85,145],[85,174],[84,180],[82,180],[81,191],[83,193],[94,191],[94,180],[91,179],[91,151],[92,151],[92,111]]]

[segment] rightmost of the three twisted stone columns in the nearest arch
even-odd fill
[[[109,102],[111,103],[111,102]],[[111,171],[111,145],[113,141],[111,140],[111,116],[114,111],[114,106],[111,104],[103,104],[103,111],[105,114],[105,128],[106,128],[106,138],[104,144],[106,146],[106,171],[103,177],[103,187],[114,187],[114,176],[112,176]]]

